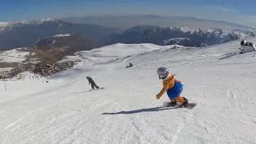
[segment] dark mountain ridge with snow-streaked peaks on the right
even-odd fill
[[[190,29],[188,27],[134,26],[121,34],[103,38],[104,45],[114,43],[154,43],[156,45],[210,46],[238,38],[254,37],[256,30]]]

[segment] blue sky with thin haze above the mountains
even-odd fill
[[[106,14],[158,14],[256,27],[256,0],[2,0],[0,22]]]

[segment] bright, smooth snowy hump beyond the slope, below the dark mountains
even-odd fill
[[[67,56],[66,60],[85,61],[90,65],[106,64],[111,62],[126,62],[126,60],[136,57],[140,54],[146,54],[154,50],[171,48],[170,46],[157,46],[154,44],[122,44],[117,43],[110,46],[103,46],[90,51],[79,51],[75,56]],[[118,61],[117,61],[118,60]]]

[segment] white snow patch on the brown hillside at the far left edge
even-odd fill
[[[0,51],[0,62],[22,62],[29,54],[30,52],[22,51],[20,48]]]

